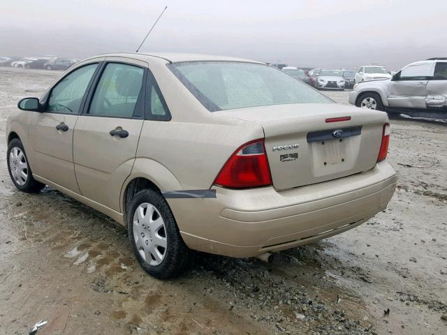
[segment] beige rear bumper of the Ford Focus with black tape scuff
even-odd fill
[[[395,171],[382,162],[368,172],[287,191],[215,188],[217,198],[168,202],[190,248],[251,257],[354,228],[386,208],[395,185]]]

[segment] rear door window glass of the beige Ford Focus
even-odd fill
[[[101,117],[133,117],[141,95],[144,70],[129,64],[109,63],[89,107],[88,114]]]

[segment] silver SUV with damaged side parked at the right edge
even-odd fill
[[[414,117],[447,117],[447,58],[411,63],[391,79],[360,82],[349,102]]]

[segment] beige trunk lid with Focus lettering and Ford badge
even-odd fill
[[[291,104],[215,112],[260,124],[274,188],[285,190],[367,171],[376,165],[385,112],[340,105]],[[349,121],[328,123],[336,117]]]

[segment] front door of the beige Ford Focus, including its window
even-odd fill
[[[73,165],[73,129],[96,68],[98,63],[73,70],[51,89],[45,111],[30,113],[33,174],[75,193],[80,190]]]

